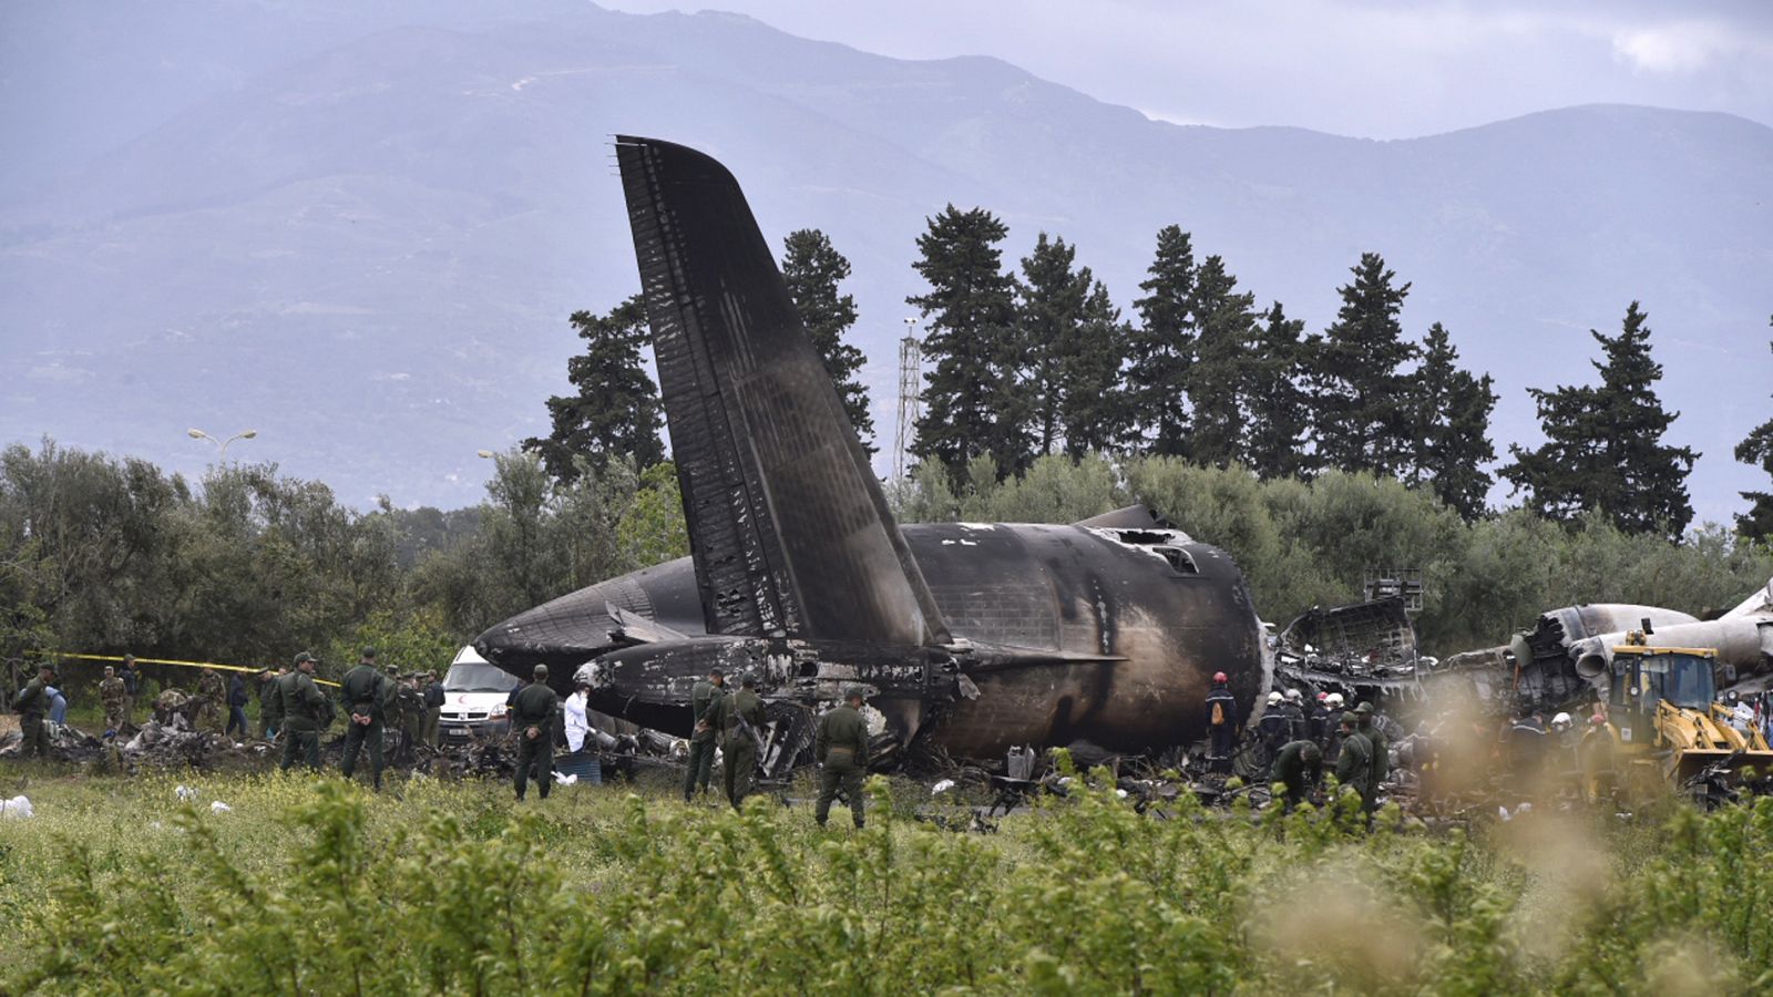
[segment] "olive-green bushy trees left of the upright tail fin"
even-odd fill
[[[514,451],[473,509],[365,513],[275,465],[186,481],[46,440],[0,452],[0,656],[310,649],[340,667],[374,644],[431,669],[511,614],[686,552],[668,463],[612,459],[560,483]]]

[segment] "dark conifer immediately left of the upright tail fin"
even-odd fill
[[[548,399],[553,431],[532,436],[523,447],[535,451],[548,474],[562,484],[578,479],[573,458],[601,468],[612,454],[633,456],[645,468],[665,459],[660,440],[660,392],[640,360],[647,342],[647,312],[635,294],[610,314],[573,312],[573,328],[585,351],[566,362],[566,380],[578,394]]]

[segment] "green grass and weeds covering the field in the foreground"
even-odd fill
[[[1376,830],[1136,813],[1106,772],[996,836],[606,789],[39,782],[0,821],[0,990],[74,993],[1713,993],[1773,985],[1773,800]],[[191,777],[186,777],[191,779]],[[225,797],[232,813],[209,813]],[[906,798],[911,795],[906,793]],[[835,821],[847,823],[847,821]],[[1619,827],[1613,827],[1619,825]]]

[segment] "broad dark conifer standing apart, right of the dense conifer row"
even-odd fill
[[[1594,362],[1599,387],[1528,389],[1546,442],[1534,451],[1511,445],[1514,463],[1502,475],[1539,514],[1571,520],[1599,509],[1626,532],[1670,538],[1693,520],[1686,475],[1699,454],[1661,442],[1681,413],[1656,397],[1661,364],[1651,358],[1645,318],[1631,302],[1619,335],[1589,330],[1605,355]]]

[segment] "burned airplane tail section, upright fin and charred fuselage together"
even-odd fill
[[[901,529],[732,174],[668,142],[615,149],[691,555],[493,626],[486,660],[548,663],[677,734],[711,667],[750,674],[771,772],[851,685],[885,720],[876,761],[1158,752],[1206,734],[1213,672],[1243,703],[1268,690],[1238,566],[1144,507]]]

